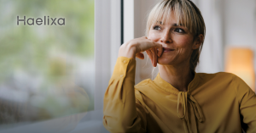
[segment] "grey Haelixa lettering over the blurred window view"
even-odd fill
[[[19,16],[17,16],[17,25],[19,23],[23,22],[24,25],[65,25],[65,18],[49,18],[49,16],[44,16],[44,19],[41,18],[28,18],[26,19],[26,16],[23,17],[23,19],[20,19]]]

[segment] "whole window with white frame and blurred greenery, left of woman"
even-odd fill
[[[103,96],[120,46],[120,2],[26,0],[0,6],[0,109],[3,103],[9,109],[0,117],[12,114],[9,121],[0,119],[0,132],[108,132]],[[17,16],[35,23],[17,25]],[[49,23],[65,18],[65,25],[37,25],[44,16]]]

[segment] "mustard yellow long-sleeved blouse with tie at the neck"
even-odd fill
[[[136,60],[119,57],[104,97],[110,132],[256,133],[256,95],[236,75],[195,73],[188,91],[157,75],[135,85]]]

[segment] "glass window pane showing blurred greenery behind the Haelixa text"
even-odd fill
[[[0,130],[93,110],[93,0],[1,0],[0,19]]]

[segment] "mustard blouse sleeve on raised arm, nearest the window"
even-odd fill
[[[146,111],[135,97],[135,68],[134,58],[117,59],[104,96],[103,125],[110,132],[146,132]]]

